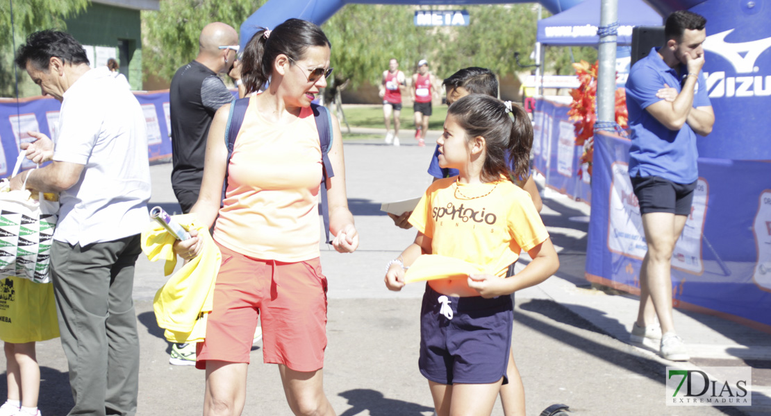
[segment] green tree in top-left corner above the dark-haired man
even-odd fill
[[[0,96],[14,97],[16,93],[15,48],[32,32],[49,28],[66,30],[64,19],[83,12],[90,3],[90,0],[0,0]],[[40,92],[23,72],[19,74],[19,89],[20,96]]]

